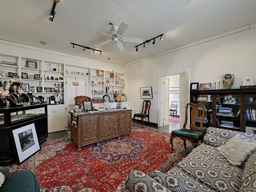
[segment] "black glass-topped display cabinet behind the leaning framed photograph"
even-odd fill
[[[29,122],[35,123],[38,140],[44,142],[48,138],[47,104],[0,108],[0,166],[15,162],[10,128],[19,128]]]

